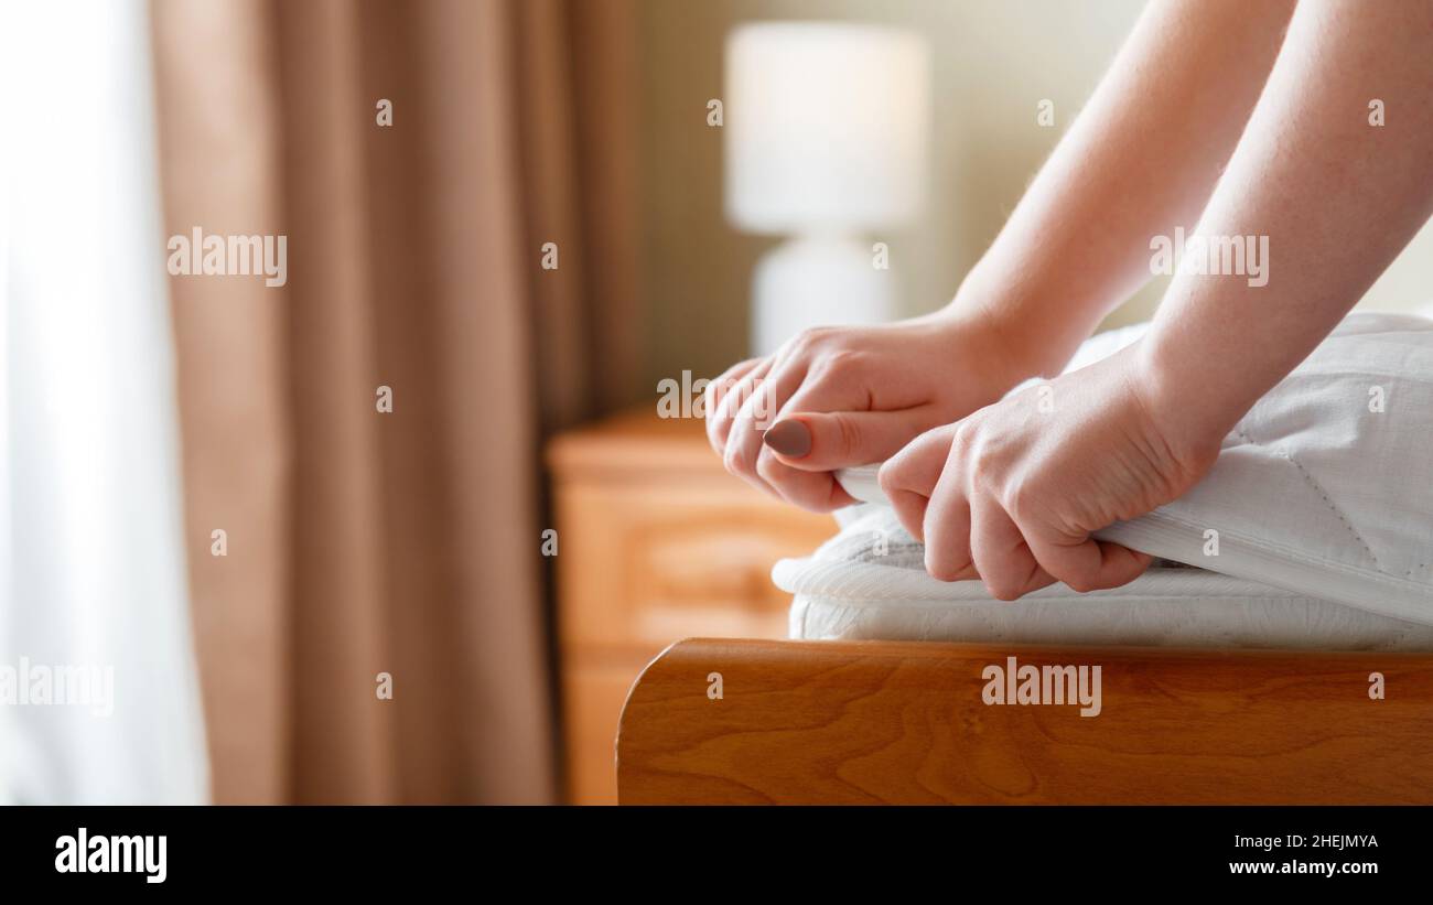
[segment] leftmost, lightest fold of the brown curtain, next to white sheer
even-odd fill
[[[165,235],[284,231],[259,4],[150,9]],[[287,800],[292,444],[287,289],[171,278],[195,647],[215,802]],[[224,531],[228,556],[211,554]]]

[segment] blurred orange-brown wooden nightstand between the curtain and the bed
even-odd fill
[[[553,438],[547,464],[567,799],[616,803],[618,716],[642,667],[684,637],[785,637],[791,599],[771,566],[835,520],[731,477],[699,420],[655,407]]]

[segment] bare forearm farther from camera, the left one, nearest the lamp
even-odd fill
[[[1149,279],[1149,238],[1199,216],[1258,100],[1293,0],[1151,4],[950,311],[1055,372]]]

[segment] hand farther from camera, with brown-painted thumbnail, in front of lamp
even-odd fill
[[[732,474],[831,511],[854,503],[833,470],[881,461],[993,402],[1035,372],[1023,361],[974,315],[810,329],[712,381],[706,435]]]

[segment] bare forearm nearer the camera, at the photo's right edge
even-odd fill
[[[1179,274],[1141,348],[1184,440],[1222,438],[1433,213],[1430,99],[1433,0],[1300,4],[1198,228],[1267,236],[1267,285]]]

